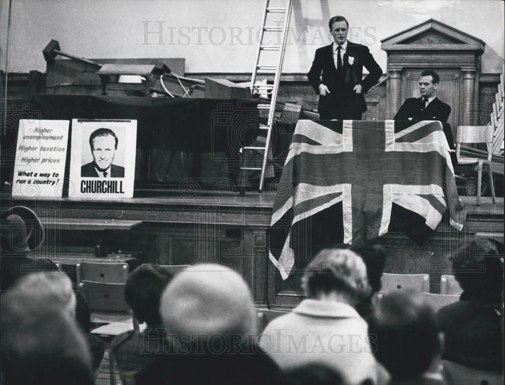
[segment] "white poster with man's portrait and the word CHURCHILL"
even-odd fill
[[[72,120],[69,197],[131,198],[135,120]]]

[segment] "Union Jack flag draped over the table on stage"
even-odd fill
[[[422,241],[445,211],[461,231],[465,212],[440,122],[298,121],[269,256],[286,279],[295,259],[310,259],[311,243],[362,244],[398,229]]]

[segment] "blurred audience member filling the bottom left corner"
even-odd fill
[[[54,306],[30,308],[26,300],[16,290],[2,296],[5,383],[93,383],[87,343],[75,319]]]

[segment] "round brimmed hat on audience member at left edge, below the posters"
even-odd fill
[[[2,253],[24,254],[44,241],[44,228],[37,214],[28,207],[15,206],[0,214]]]

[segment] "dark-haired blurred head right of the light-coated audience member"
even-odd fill
[[[382,297],[369,321],[374,354],[393,379],[414,379],[440,354],[434,310],[422,295],[410,291]]]

